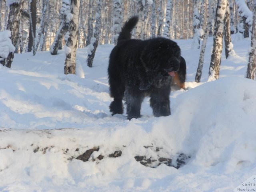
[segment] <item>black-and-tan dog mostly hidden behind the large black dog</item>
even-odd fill
[[[180,89],[185,89],[186,68],[186,61],[180,56],[180,68],[178,71],[174,72],[175,76],[172,79],[172,84],[176,84]]]

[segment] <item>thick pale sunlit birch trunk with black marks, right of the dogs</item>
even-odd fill
[[[221,54],[223,48],[223,27],[224,27],[224,17],[226,12],[227,0],[218,0],[216,17],[215,17],[215,27],[214,27],[214,37],[213,37],[213,50],[209,68],[209,78],[208,81],[216,80],[219,78],[220,74],[220,63]]]

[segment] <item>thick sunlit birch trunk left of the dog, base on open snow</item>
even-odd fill
[[[73,15],[69,23],[69,37],[66,42],[65,74],[76,74],[76,48],[78,40],[80,0],[71,0],[70,13]]]

